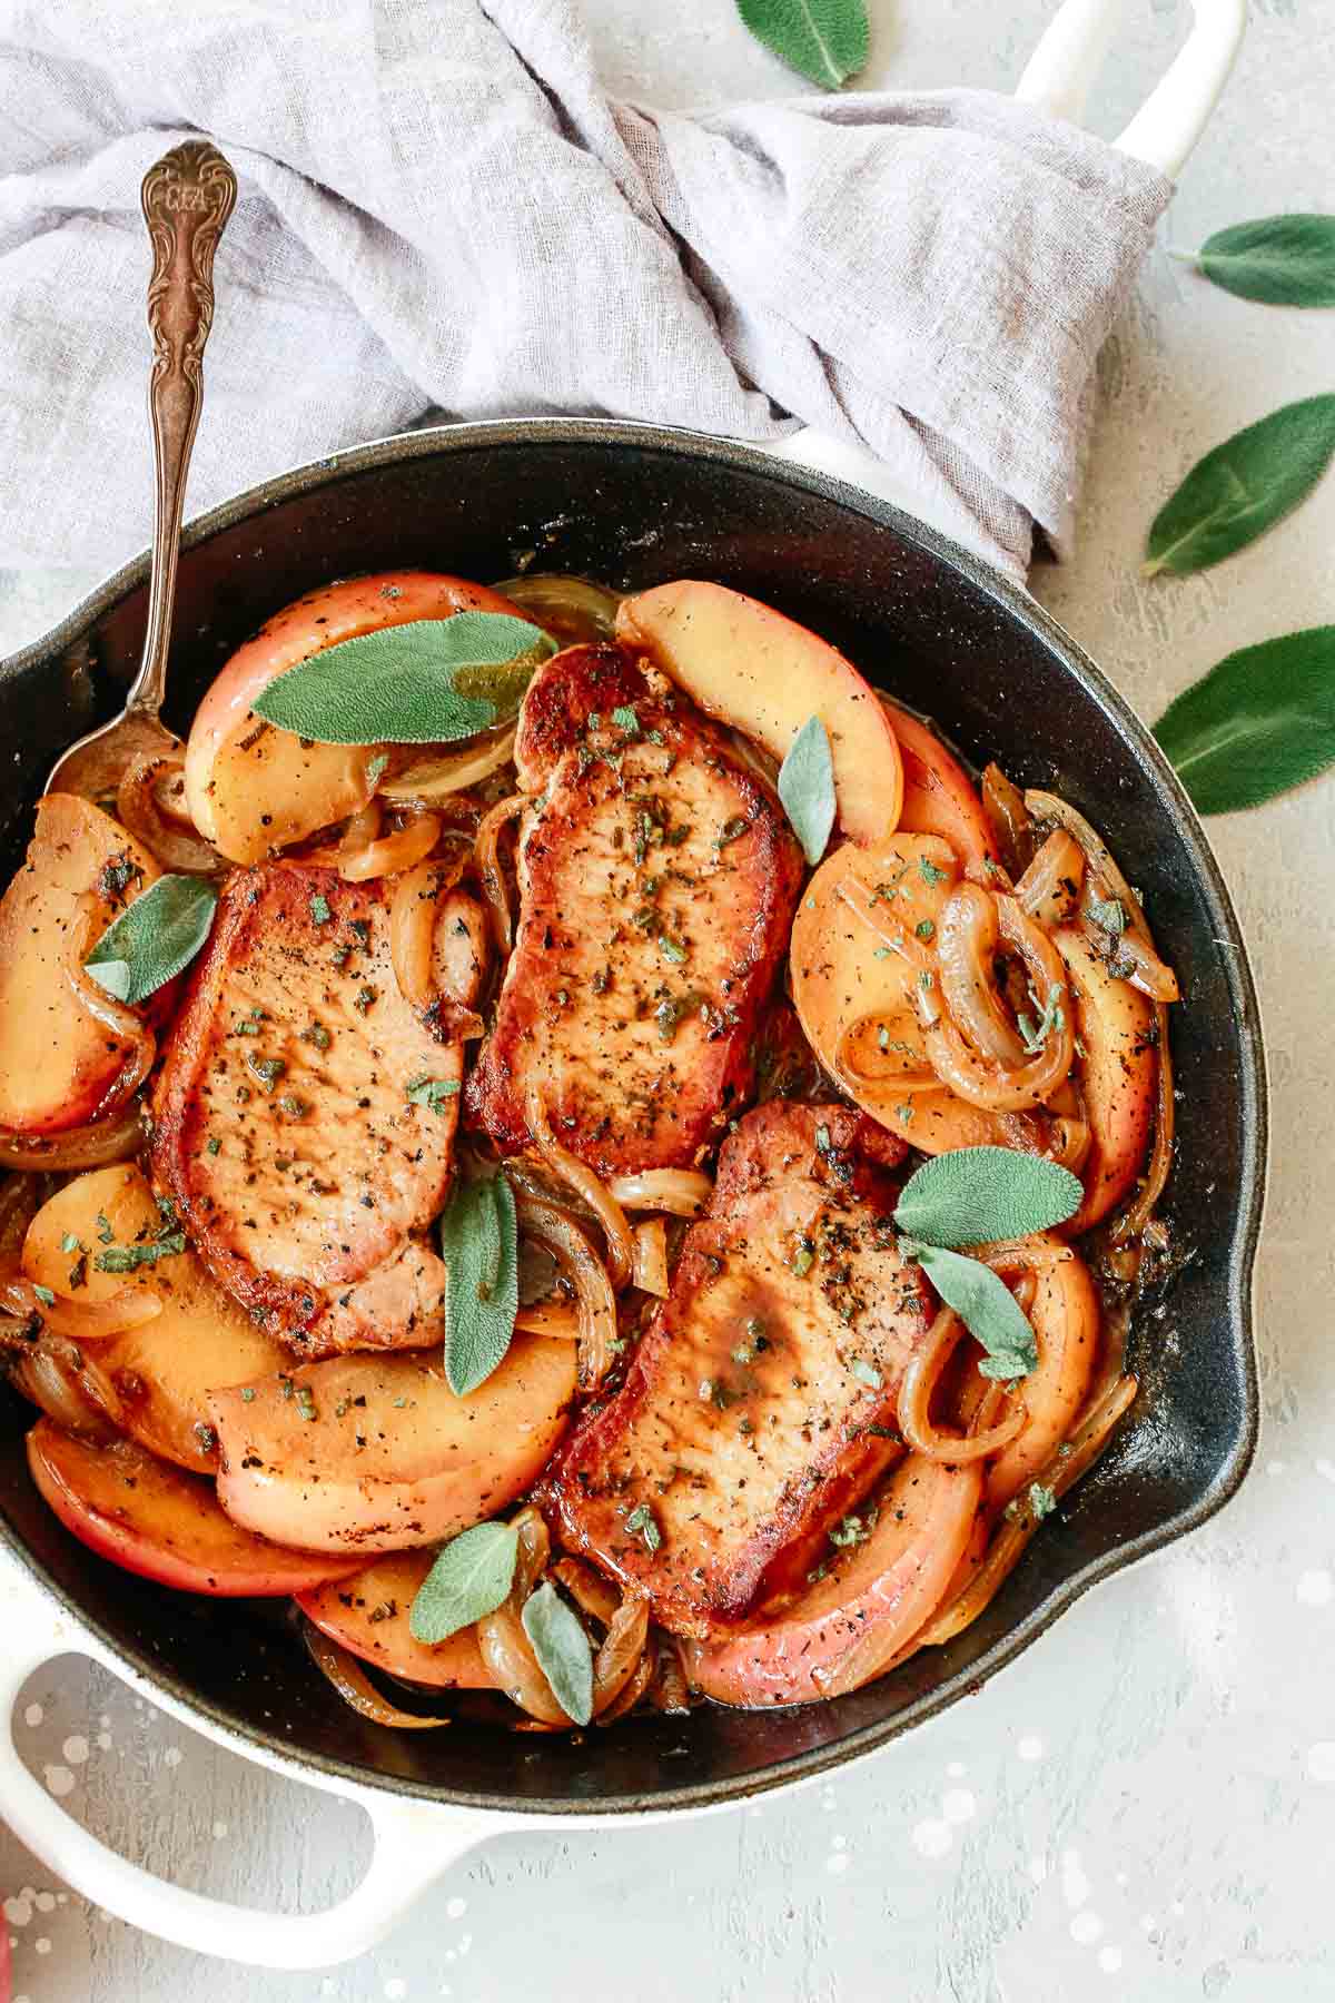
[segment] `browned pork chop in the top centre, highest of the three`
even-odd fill
[[[725,733],[620,647],[538,671],[514,761],[518,935],[466,1118],[514,1154],[536,1090],[598,1174],[693,1168],[751,1096],[801,849]]]

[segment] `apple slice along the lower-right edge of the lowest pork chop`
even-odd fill
[[[807,1705],[871,1683],[941,1604],[981,1488],[979,1462],[951,1468],[909,1454],[879,1494],[871,1536],[833,1550],[827,1574],[783,1612],[687,1644],[691,1681],[719,1705],[749,1707]]]

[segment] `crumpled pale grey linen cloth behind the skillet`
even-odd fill
[[[991,92],[610,102],[574,0],[8,0],[0,565],[148,539],[138,182],[202,132],[200,509],[444,417],[596,415],[891,469],[1023,575],[1169,184]]]

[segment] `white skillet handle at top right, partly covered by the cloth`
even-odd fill
[[[1015,96],[1053,118],[1079,124],[1125,10],[1127,0],[1065,0],[1025,64]],[[1169,180],[1177,180],[1209,124],[1247,28],[1247,0],[1191,0],[1191,10],[1195,24],[1185,44],[1131,124],[1113,140],[1119,152],[1157,166]],[[883,501],[907,507],[911,515],[919,513],[921,503],[915,507],[913,493],[863,445],[829,439],[807,427],[783,439],[775,453],[865,487]]]

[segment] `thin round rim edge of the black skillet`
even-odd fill
[[[991,1677],[1011,1664],[1031,1646],[1069,1606],[1073,1606],[1091,1586],[1129,1564],[1177,1542],[1181,1536],[1207,1522],[1231,1496],[1237,1494],[1247,1468],[1251,1466],[1259,1432],[1259,1382],[1255,1350],[1255,1256],[1261,1236],[1261,1214],[1265,1206],[1265,1176],[1269,1150],[1269,1104],[1265,1078],[1265,1044],[1261,1032],[1261,1006],[1247,955],[1243,931],[1233,909],[1233,899],[1225,885],[1215,853],[1201,819],[1169,765],[1167,757],[1149,735],[1149,729],[1135,715],[1125,697],[1113,687],[1107,675],[1093,663],[1085,649],[1053,619],[1021,585],[1001,571],[995,571],[981,557],[953,543],[929,523],[907,515],[903,509],[865,489],[851,487],[833,475],[799,467],[779,455],[743,445],[733,439],[719,439],[709,433],[685,427],[642,425],[620,419],[492,419],[484,423],[448,423],[420,431],[394,433],[366,445],[324,459],[308,461],[286,473],[274,475],[240,495],[222,501],[204,515],[194,517],[182,533],[182,549],[192,549],[208,541],[222,529],[234,527],[266,509],[296,495],[312,493],[322,485],[334,485],[350,475],[374,471],[382,465],[398,465],[406,459],[448,455],[452,451],[476,451],[478,447],[518,447],[526,445],[592,445],[592,447],[632,447],[675,455],[689,461],[721,463],[733,471],[769,479],[781,487],[817,495],[837,507],[861,515],[879,529],[893,531],[931,557],[947,573],[965,579],[981,591],[997,611],[1019,625],[1031,639],[1053,653],[1063,671],[1081,687],[1083,695],[1113,721],[1127,753],[1145,767],[1159,795],[1159,805],[1171,823],[1179,849],[1187,851],[1195,877],[1203,887],[1215,937],[1227,947],[1223,955],[1229,1002],[1239,1028],[1239,1088],[1241,1088],[1241,1156],[1243,1172],[1237,1188],[1237,1222],[1229,1248],[1227,1280],[1223,1286],[1223,1308],[1233,1344],[1241,1358],[1241,1412],[1239,1428],[1221,1462],[1215,1478],[1187,1508],[1177,1510],[1141,1536],[1119,1544],[1103,1558],[1083,1564],[1073,1576],[1055,1586],[1047,1598],[1017,1622],[1001,1640],[993,1644],[977,1662],[943,1679],[935,1689],[907,1703],[895,1717],[863,1725],[847,1733],[833,1745],[795,1753],[789,1759],[765,1767],[759,1773],[733,1779],[699,1781],[689,1787],[654,1793],[626,1795],[574,1795],[574,1797],[524,1797],[486,1791],[446,1789],[392,1777],[372,1771],[352,1761],[334,1759],[320,1753],[304,1753],[282,1741],[278,1733],[264,1733],[258,1727],[240,1723],[212,1701],[196,1697],[190,1687],[152,1660],[148,1648],[142,1652],[122,1644],[100,1622],[92,1620],[82,1606],[46,1572],[28,1550],[14,1526],[0,1518],[0,1536],[24,1570],[52,1594],[80,1632],[96,1636],[100,1648],[124,1664],[132,1675],[166,1695],[188,1723],[202,1723],[210,1737],[230,1745],[244,1757],[260,1757],[266,1765],[292,1771],[296,1779],[320,1775],[328,1783],[348,1783],[354,1791],[376,1791],[398,1799],[436,1803],[450,1809],[474,1809],[510,1819],[570,1819],[606,1821],[630,1815],[660,1815],[721,1807],[729,1801],[745,1801],[773,1789],[791,1787],[849,1761],[873,1753],[915,1725],[937,1717],[949,1705],[979,1691]],[[10,677],[38,667],[42,661],[60,655],[74,641],[82,639],[96,621],[118,605],[148,575],[148,553],[132,557],[118,571],[96,585],[56,627],[32,641],[28,647],[0,661],[0,699]]]

